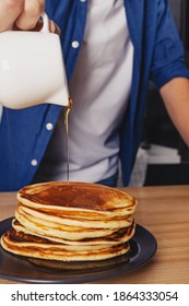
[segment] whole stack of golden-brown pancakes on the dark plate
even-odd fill
[[[51,181],[17,192],[12,227],[2,247],[29,258],[104,260],[127,254],[134,234],[135,199],[90,183]]]

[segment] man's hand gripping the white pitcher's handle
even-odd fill
[[[13,28],[23,31],[39,31],[39,20],[45,10],[45,0],[0,0],[0,32]],[[50,32],[59,28],[50,21]]]

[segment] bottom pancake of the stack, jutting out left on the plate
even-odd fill
[[[1,237],[1,245],[5,250],[15,255],[64,261],[103,260],[123,255],[130,249],[129,244],[121,244],[110,247],[102,246],[102,248],[97,249],[70,250],[62,244],[54,244],[52,242],[33,235],[17,235],[13,228],[9,229]]]

